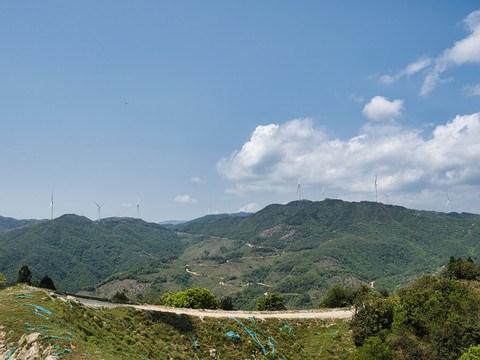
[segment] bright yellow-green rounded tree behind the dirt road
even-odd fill
[[[207,289],[193,288],[163,294],[161,302],[165,306],[190,309],[218,309],[218,301]]]

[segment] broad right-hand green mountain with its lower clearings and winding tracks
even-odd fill
[[[480,252],[478,215],[372,202],[295,201],[177,230],[196,239],[178,259],[117,274],[95,295],[111,296],[135,280],[148,284],[144,295],[206,287],[253,309],[265,292],[277,292],[289,308],[308,308],[338,283],[392,291],[438,272],[452,255],[478,261]]]

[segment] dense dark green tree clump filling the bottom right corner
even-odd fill
[[[352,330],[363,354],[453,360],[480,343],[479,319],[478,291],[458,280],[425,276],[395,296],[368,299],[352,319]]]

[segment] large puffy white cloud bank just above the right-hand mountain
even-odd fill
[[[348,140],[329,137],[311,119],[258,126],[240,150],[217,163],[230,193],[294,193],[302,184],[348,194],[435,192],[480,184],[480,113],[457,116],[425,135],[395,123],[371,122]]]

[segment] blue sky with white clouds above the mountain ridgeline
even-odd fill
[[[0,149],[17,219],[478,214],[480,5],[0,1]]]

